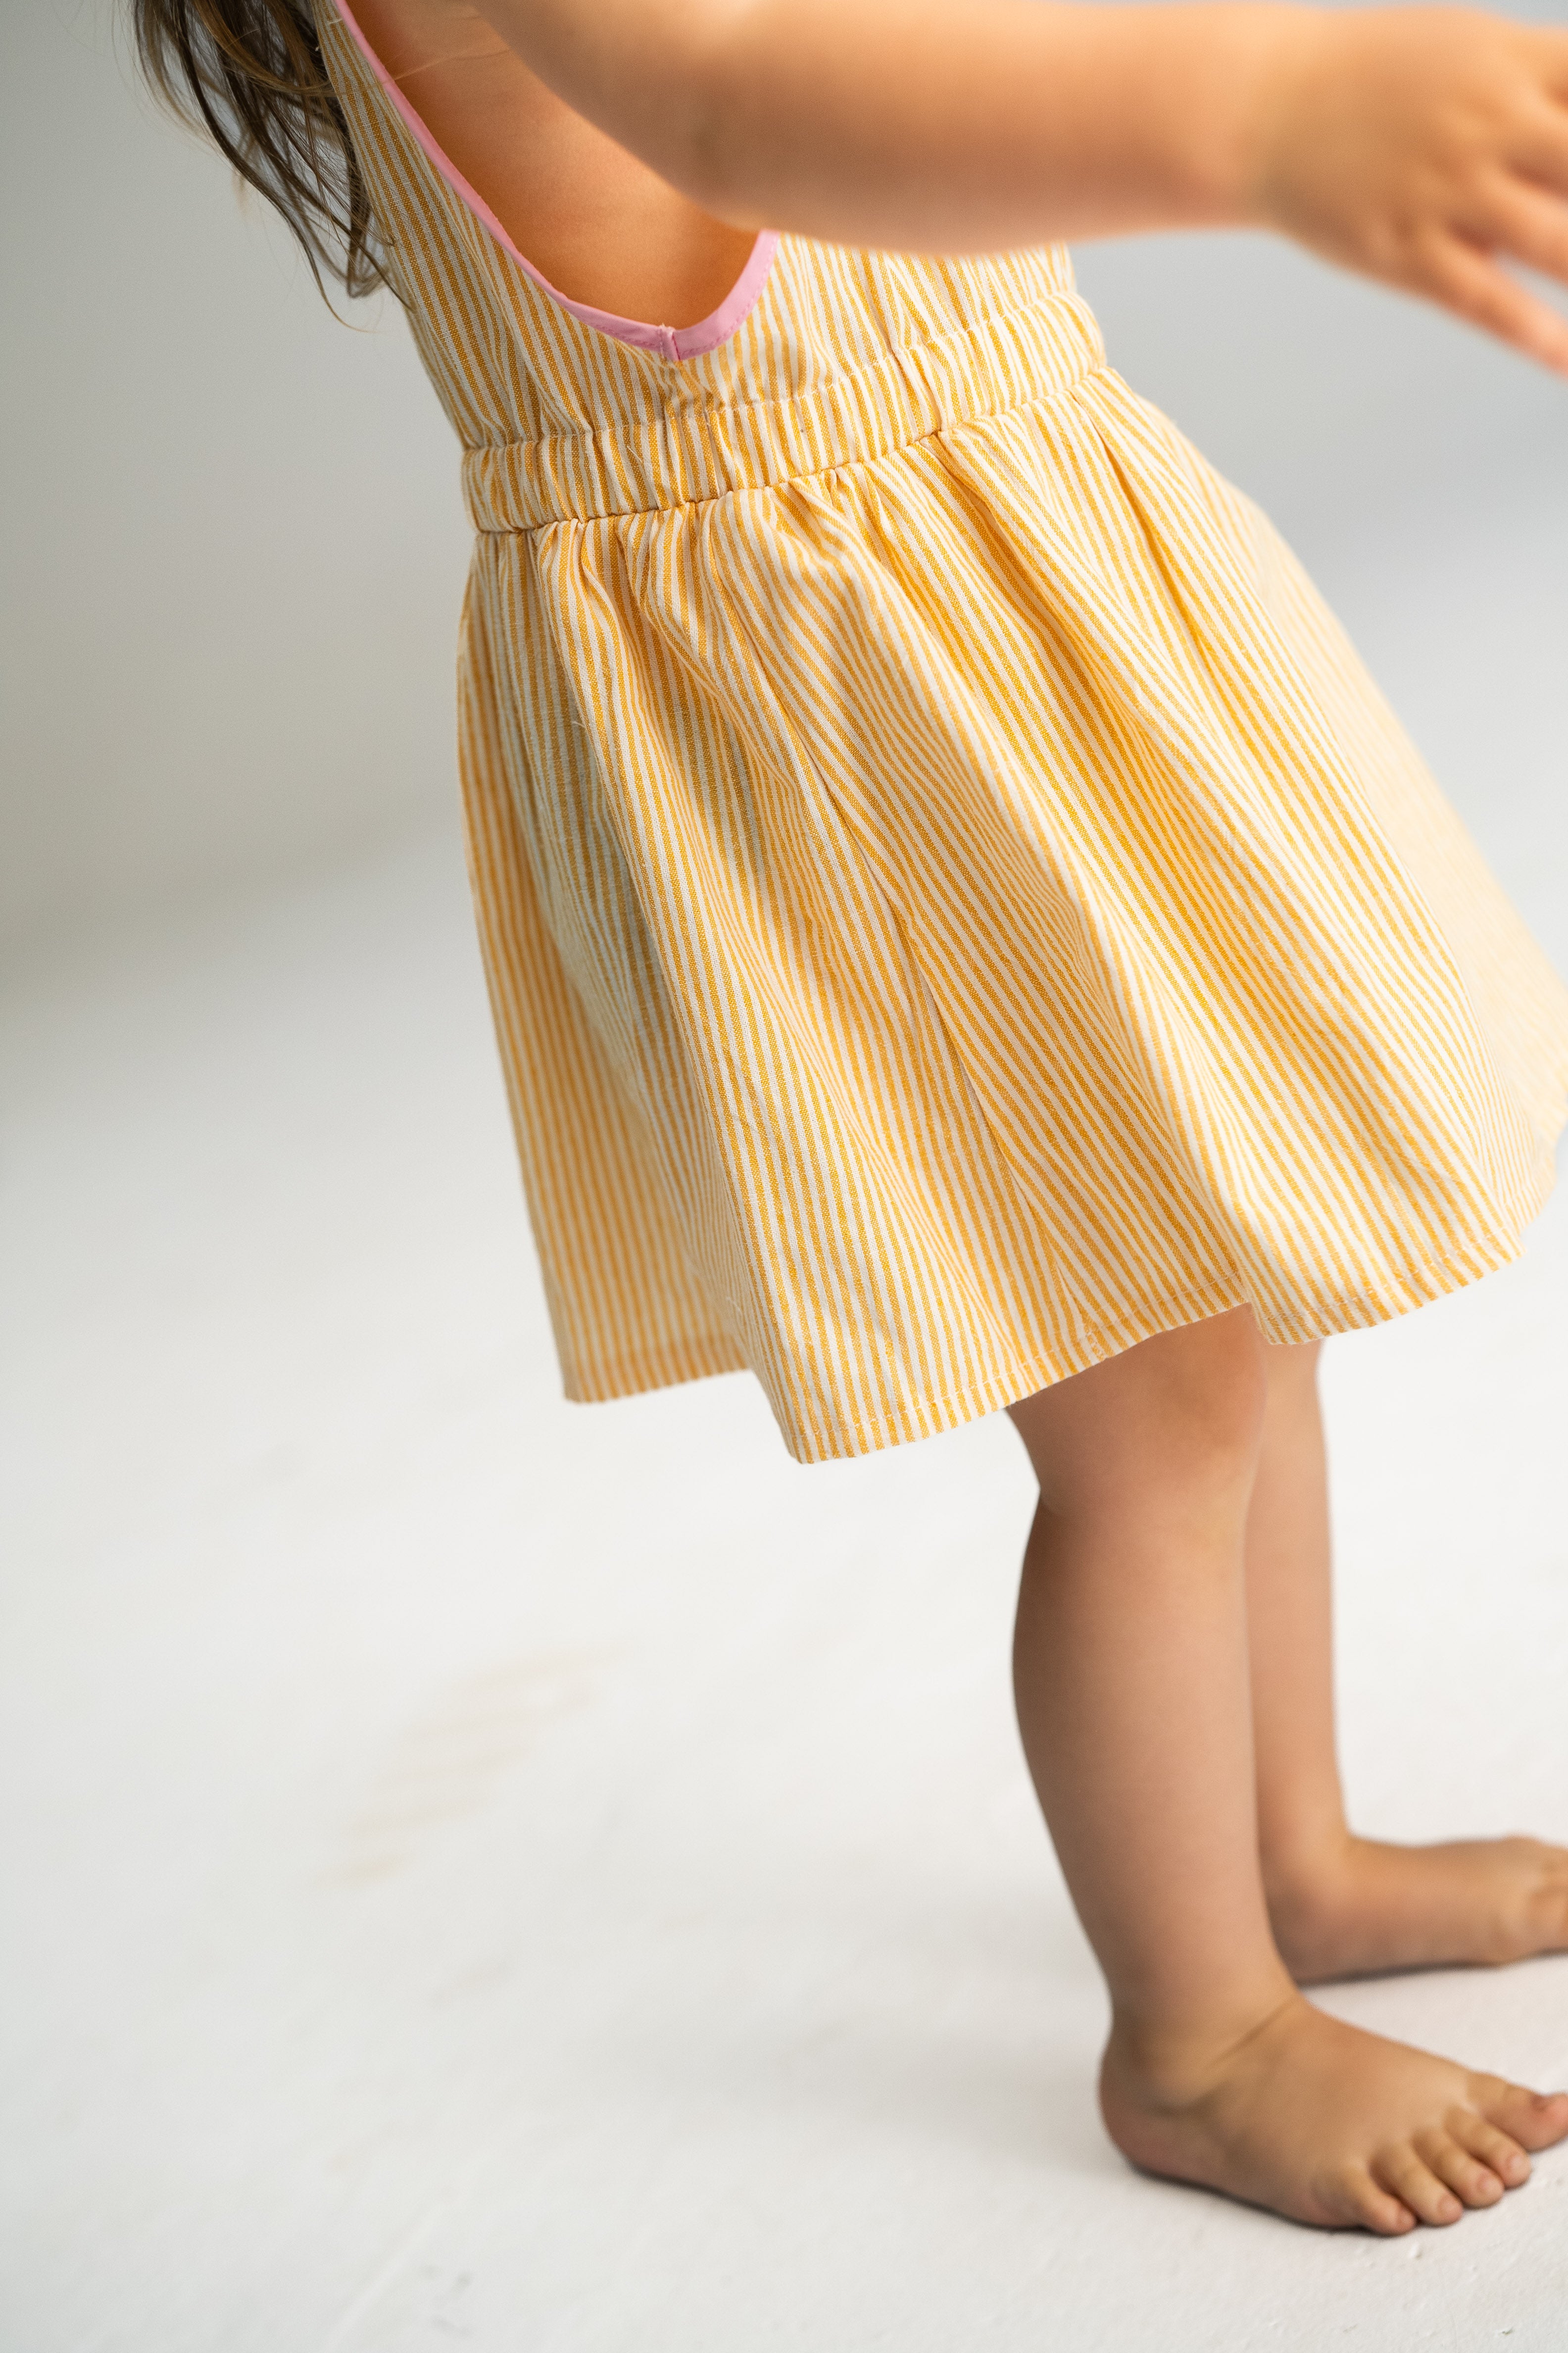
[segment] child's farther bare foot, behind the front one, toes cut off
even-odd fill
[[[1298,1984],[1568,1951],[1568,1849],[1540,1838],[1345,1838],[1267,1878],[1274,1939]]]

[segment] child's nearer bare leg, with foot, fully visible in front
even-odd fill
[[[1340,2026],[1279,1958],[1241,1560],[1265,1391],[1237,1311],[1011,1409],[1041,1482],[1018,1722],[1110,1984],[1117,2146],[1300,2221],[1394,2233],[1495,2202],[1528,2148],[1568,2134],[1568,2097]]]

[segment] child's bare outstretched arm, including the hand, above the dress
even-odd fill
[[[738,226],[924,252],[1253,226],[1568,374],[1568,31],[1460,7],[480,0]]]

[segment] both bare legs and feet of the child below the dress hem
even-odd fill
[[[1399,2235],[1526,2181],[1568,2097],[1342,2026],[1298,1979],[1561,1951],[1568,1854],[1352,1835],[1314,1358],[1237,1308],[1011,1407],[1041,1489],[1013,1682],[1110,1986],[1117,2146]]]

